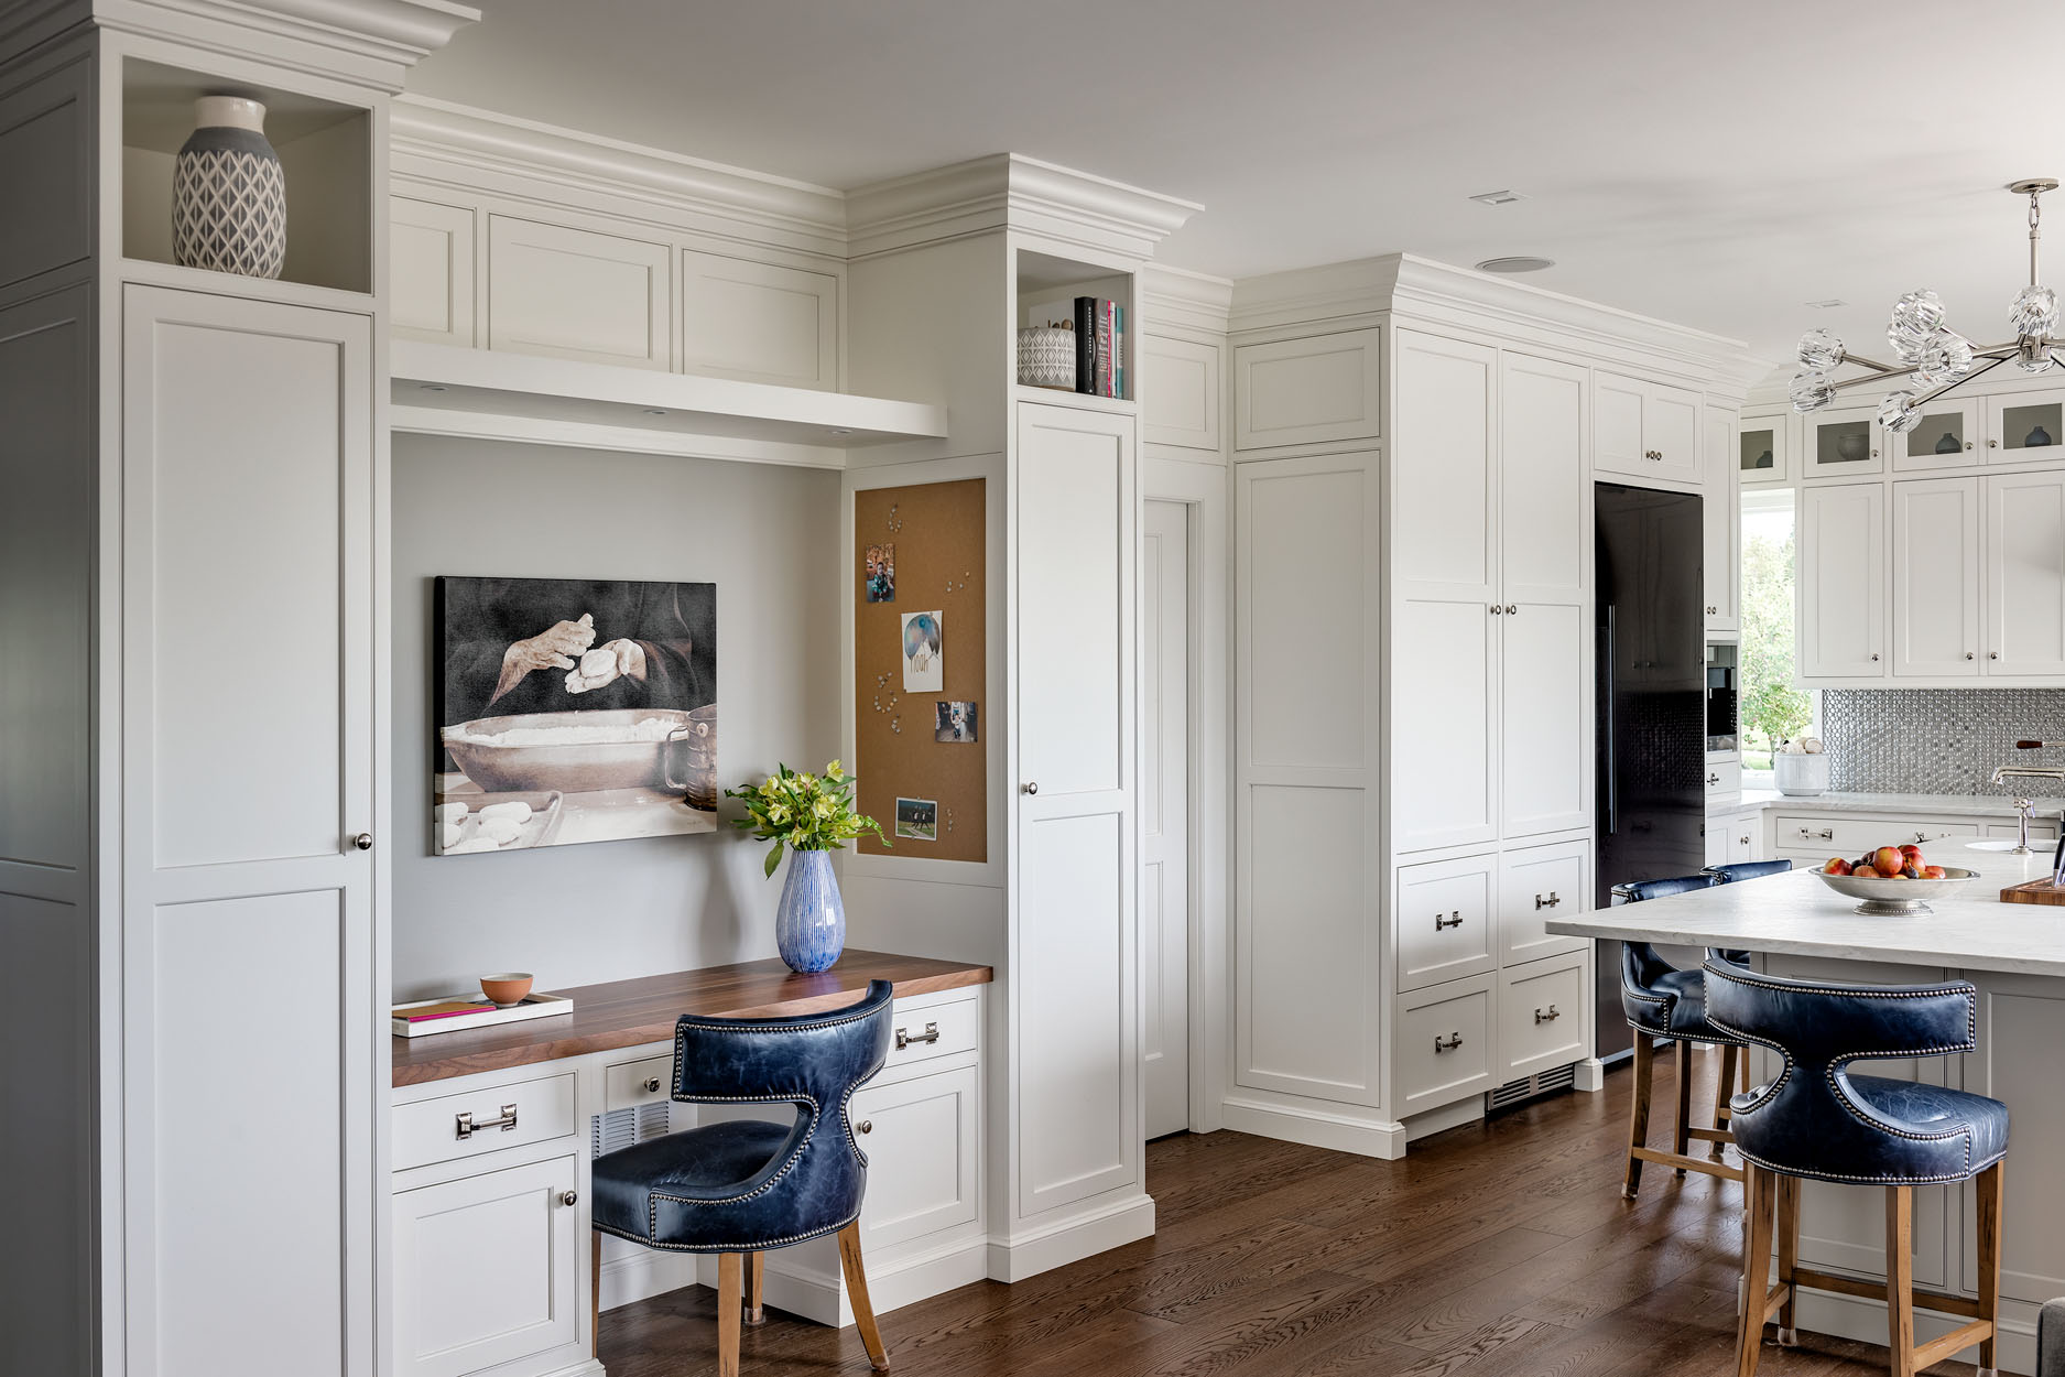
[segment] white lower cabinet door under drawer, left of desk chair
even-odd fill
[[[399,1377],[460,1377],[580,1342],[578,1171],[568,1154],[394,1195]]]

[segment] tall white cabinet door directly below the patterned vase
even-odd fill
[[[130,287],[122,330],[130,1365],[368,1377],[388,1094],[378,853],[351,844],[384,830],[372,322]],[[295,991],[262,1038],[258,972]],[[285,1125],[291,1150],[258,1150]]]

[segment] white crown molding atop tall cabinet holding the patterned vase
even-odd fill
[[[481,12],[452,0],[78,0],[81,19],[401,91],[409,68]]]

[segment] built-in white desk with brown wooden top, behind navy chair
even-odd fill
[[[983,987],[989,966],[847,952],[832,970],[779,960],[560,989],[574,1012],[394,1043],[392,1241],[399,1377],[601,1373],[589,1325],[589,1164],[644,1138],[785,1104],[675,1104],[681,1014],[779,1018],[896,987],[888,1063],[855,1092],[867,1152],[876,1311],[987,1276],[983,1214]],[[603,1309],[698,1278],[698,1259],[617,1239]],[[768,1255],[768,1305],[851,1323],[836,1243]],[[714,1332],[712,1332],[714,1344]],[[714,1350],[712,1350],[714,1352]]]

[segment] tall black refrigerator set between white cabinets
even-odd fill
[[[1706,865],[1706,526],[1699,498],[1596,485],[1598,894]],[[1633,1049],[1621,943],[1598,943],[1598,1057]]]

